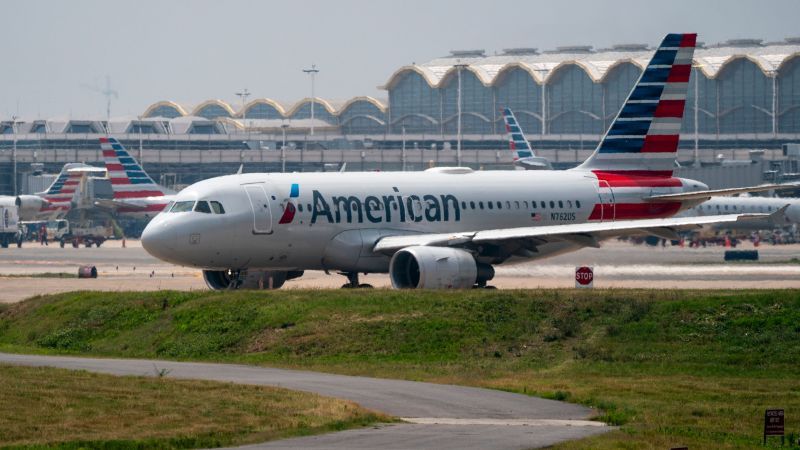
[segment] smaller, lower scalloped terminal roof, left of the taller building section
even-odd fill
[[[333,116],[341,116],[342,114],[345,114],[349,108],[358,104],[359,102],[369,103],[378,108],[378,110],[381,113],[385,113],[388,109],[388,106],[386,105],[385,102],[382,102],[374,97],[369,97],[369,96],[353,97],[346,101],[326,100],[320,97],[315,98],[315,103],[317,107],[323,108]],[[244,106],[244,111],[249,111],[252,107],[257,106],[259,104],[263,104],[273,107],[281,116],[283,116],[286,119],[290,119],[294,113],[296,113],[300,108],[302,108],[304,105],[308,103],[311,103],[311,97],[306,97],[292,104],[283,103],[271,98],[257,98],[247,102]],[[198,104],[197,106],[189,107],[186,105],[178,104],[177,102],[162,100],[150,105],[145,110],[144,114],[142,114],[142,116],[155,117],[153,116],[153,114],[159,111],[160,108],[162,107],[171,108],[172,110],[177,111],[180,114],[180,116],[183,117],[199,116],[202,114],[205,108],[208,108],[210,106],[218,106],[222,108],[222,110],[224,110],[229,117],[242,118],[243,117],[242,107],[238,105],[234,107],[234,105],[237,104],[235,102],[228,103],[224,100],[212,99],[212,100],[206,100]]]

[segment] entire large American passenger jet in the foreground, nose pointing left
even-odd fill
[[[566,171],[252,173],[179,192],[142,234],[212,289],[279,288],[304,270],[389,273],[395,288],[485,287],[493,266],[752,215],[673,217],[718,194],[676,178],[695,34],[667,35],[595,152]],[[764,215],[755,215],[763,217]]]

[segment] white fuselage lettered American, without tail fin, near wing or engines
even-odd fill
[[[165,211],[142,239],[163,260],[209,270],[386,272],[390,258],[372,252],[382,236],[668,217],[692,204],[642,203],[642,197],[705,189],[681,179],[672,187],[611,189],[579,170],[458,172],[213,178],[187,187],[174,201],[217,201],[224,214]],[[293,217],[286,208],[295,210]],[[579,247],[550,243],[535,257]],[[501,262],[507,261],[490,261]]]

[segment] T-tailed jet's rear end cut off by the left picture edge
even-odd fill
[[[0,205],[16,205],[23,221],[55,220],[72,209],[80,195],[81,181],[94,174],[97,168],[82,163],[64,164],[58,177],[44,192],[29,195],[0,197]]]

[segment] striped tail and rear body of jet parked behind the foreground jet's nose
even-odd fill
[[[114,194],[95,205],[122,216],[149,219],[172,201],[175,193],[156,184],[118,140],[100,138],[100,149]]]

